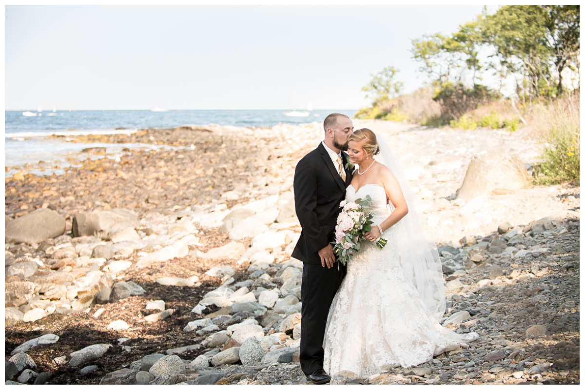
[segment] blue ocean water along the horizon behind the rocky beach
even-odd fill
[[[309,116],[285,116],[288,110],[106,110],[106,111],[43,111],[36,116],[24,116],[23,111],[5,111],[4,165],[11,177],[19,170],[36,174],[60,174],[58,167],[66,167],[67,155],[86,147],[106,146],[109,157],[121,153],[123,147],[150,147],[140,144],[81,144],[46,139],[51,134],[70,135],[96,133],[128,133],[147,128],[168,128],[180,125],[272,127],[279,123],[322,122],[329,113],[340,112],[350,118],[356,111],[312,111]],[[43,161],[39,169],[35,165]],[[25,166],[26,165],[26,166]]]

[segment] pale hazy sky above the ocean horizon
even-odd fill
[[[5,109],[358,109],[384,67],[421,87],[411,40],[482,9],[5,6]]]

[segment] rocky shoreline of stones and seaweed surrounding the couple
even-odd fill
[[[535,162],[527,132],[355,126],[381,134],[411,180],[442,256],[445,325],[480,339],[333,382],[579,383],[579,188],[464,202],[452,195],[473,156]],[[6,380],[305,384],[292,175],[321,137],[320,123],[65,137],[169,147],[87,150],[63,175],[7,178]]]

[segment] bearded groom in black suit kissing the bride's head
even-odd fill
[[[292,257],[303,264],[301,285],[302,371],[314,384],[328,383],[323,370],[323,338],[329,306],[345,276],[345,267],[335,263],[331,241],[345,199],[345,189],[352,181],[346,169],[347,139],[353,132],[348,116],[332,113],[323,123],[325,139],[298,162],[294,173],[294,198],[302,231]]]

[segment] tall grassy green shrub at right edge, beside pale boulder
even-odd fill
[[[544,144],[543,161],[535,165],[537,184],[575,182],[579,185],[579,98],[562,99],[536,115]]]

